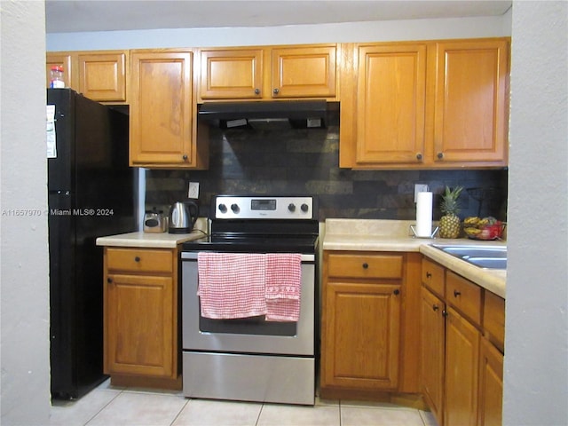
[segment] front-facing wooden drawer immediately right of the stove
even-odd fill
[[[330,277],[402,278],[402,255],[329,255]]]

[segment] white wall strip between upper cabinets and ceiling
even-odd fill
[[[258,44],[376,42],[510,36],[510,10],[491,18],[390,20],[278,28],[178,28],[143,31],[55,33],[48,51],[208,47]]]

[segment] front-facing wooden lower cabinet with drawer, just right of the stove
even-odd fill
[[[419,254],[324,251],[322,398],[393,401],[404,393],[398,403],[422,406],[419,283]]]

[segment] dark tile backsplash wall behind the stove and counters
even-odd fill
[[[201,124],[200,124],[201,125]],[[327,129],[209,130],[209,170],[146,170],[146,209],[167,211],[187,199],[189,182],[200,184],[200,216],[209,216],[211,195],[299,194],[319,197],[319,220],[327,217],[415,219],[414,184],[435,194],[446,185],[484,188],[479,201],[463,191],[461,217],[494,216],[506,220],[507,170],[349,170],[340,169],[339,118]],[[477,197],[477,194],[473,194]],[[477,197],[478,198],[478,197]]]

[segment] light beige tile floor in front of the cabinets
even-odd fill
[[[116,388],[109,381],[76,401],[54,400],[58,426],[436,426],[424,411],[318,400],[315,406],[185,398],[179,391]]]

